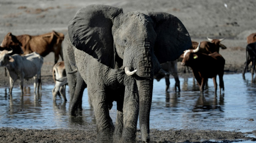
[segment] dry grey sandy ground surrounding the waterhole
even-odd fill
[[[224,6],[226,3],[227,7]],[[226,50],[220,49],[225,58],[225,74],[240,73],[245,62],[246,37],[256,32],[256,1],[254,0],[0,0],[0,41],[8,32],[13,35],[39,35],[55,30],[67,33],[67,23],[78,9],[90,4],[105,4],[123,8],[124,12],[162,11],[177,16],[187,28],[193,41],[223,38]],[[53,53],[44,58],[42,83],[53,84]],[[179,75],[183,68],[178,64]],[[0,87],[9,86],[9,78],[0,68]],[[25,82],[32,85],[33,80]],[[18,87],[18,82],[15,84]],[[140,141],[140,132],[137,132]],[[255,131],[253,132],[255,134]],[[202,142],[206,140],[255,140],[240,132],[204,130],[151,130],[155,142]],[[63,137],[65,136],[65,138]],[[0,128],[0,142],[95,142],[95,125],[87,130],[22,130]]]

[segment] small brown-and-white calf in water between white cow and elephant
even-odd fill
[[[54,76],[55,74],[55,76]],[[54,80],[54,88],[52,90],[53,93],[53,101],[56,102],[56,96],[57,94],[62,96],[64,98],[64,101],[67,101],[66,98],[66,84],[67,80],[64,82],[56,81],[56,79],[60,79],[63,77],[66,77],[66,70],[64,61],[58,62],[53,66],[53,80]],[[56,77],[56,78],[55,78]]]

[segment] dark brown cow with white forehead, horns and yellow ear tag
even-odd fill
[[[200,42],[195,50],[186,50],[181,65],[192,68],[193,74],[200,87],[201,95],[203,95],[204,86],[208,78],[213,78],[215,93],[217,92],[216,76],[219,75],[220,93],[224,90],[223,74],[224,74],[224,58],[217,52],[212,54],[199,53]]]

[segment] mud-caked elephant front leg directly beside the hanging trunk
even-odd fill
[[[131,83],[130,83],[131,84]],[[136,82],[125,87],[123,105],[123,142],[135,142],[139,115],[139,93]]]

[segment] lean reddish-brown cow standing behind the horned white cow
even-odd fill
[[[64,34],[55,31],[36,36],[30,36],[27,34],[15,36],[9,32],[2,41],[1,47],[10,48],[11,46],[20,45],[24,54],[37,52],[43,57],[50,52],[54,52],[54,64],[56,64],[59,59],[59,55],[63,60],[61,52],[61,43],[63,39]]]

